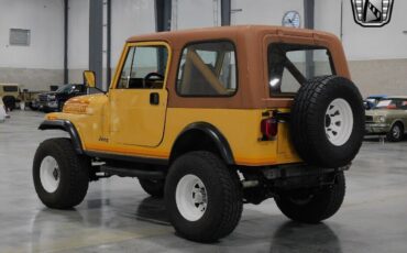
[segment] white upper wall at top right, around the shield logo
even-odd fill
[[[340,35],[338,0],[316,0],[316,29]],[[343,1],[343,46],[350,61],[407,58],[407,1],[395,1],[392,21],[383,28],[362,28],[353,20],[351,1]]]

